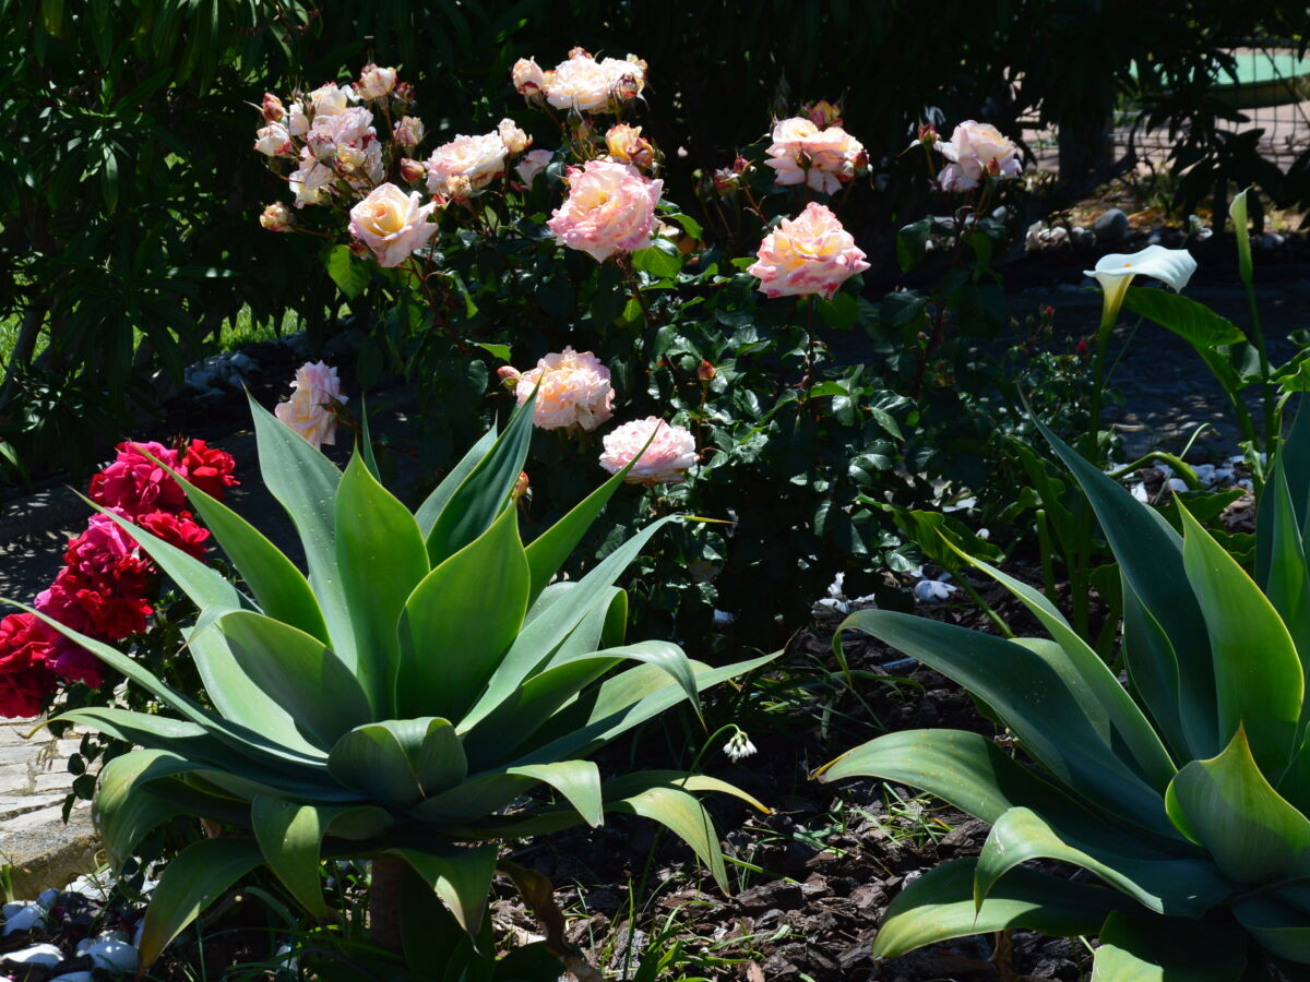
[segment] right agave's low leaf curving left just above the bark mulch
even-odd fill
[[[976,909],[975,864],[973,859],[943,863],[901,890],[874,937],[874,957],[895,958],[925,944],[1010,928],[1057,937],[1095,935],[1111,911],[1140,910],[1117,890],[1024,867],[998,882]]]

